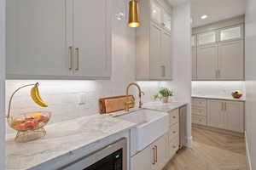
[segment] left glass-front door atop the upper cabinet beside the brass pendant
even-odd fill
[[[156,24],[161,25],[162,21],[162,9],[160,4],[156,2],[156,0],[151,0],[151,20],[153,20]]]

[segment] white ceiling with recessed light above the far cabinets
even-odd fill
[[[178,6],[189,0],[166,0],[172,6]],[[190,0],[192,26],[203,26],[218,20],[229,19],[245,14],[246,0]],[[201,20],[207,14],[208,18]]]

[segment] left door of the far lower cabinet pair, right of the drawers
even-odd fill
[[[224,128],[224,102],[221,100],[208,100],[208,102],[207,125]]]

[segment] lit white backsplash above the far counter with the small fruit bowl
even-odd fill
[[[231,97],[235,90],[241,90],[246,98],[245,82],[240,81],[197,81],[192,82],[192,95]]]

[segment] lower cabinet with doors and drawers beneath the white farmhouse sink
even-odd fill
[[[154,143],[131,157],[131,170],[162,170],[179,149],[178,109],[170,113],[170,128]]]

